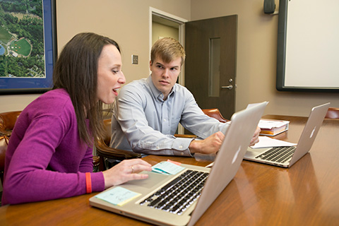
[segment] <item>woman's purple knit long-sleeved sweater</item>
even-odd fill
[[[18,117],[6,151],[2,204],[66,198],[103,191],[102,172],[93,173],[93,147],[81,142],[76,114],[65,90],[51,90]]]

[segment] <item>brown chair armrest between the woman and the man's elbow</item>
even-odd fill
[[[129,150],[120,150],[117,148],[111,148],[106,145],[106,143],[102,140],[97,141],[95,144],[95,148],[97,150],[97,155],[107,158],[112,158],[114,160],[128,160],[131,158],[140,158],[140,153],[133,153],[133,151]]]

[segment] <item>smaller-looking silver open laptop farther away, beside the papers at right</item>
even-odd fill
[[[279,167],[291,167],[311,149],[329,105],[330,103],[327,103],[311,109],[311,114],[309,114],[309,119],[302,131],[302,136],[300,136],[297,146],[275,148],[249,147],[244,156],[244,160],[251,160]]]

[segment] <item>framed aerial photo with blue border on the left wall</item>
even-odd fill
[[[52,85],[53,85],[52,73],[53,73],[54,63],[57,59],[56,3],[55,3],[55,0],[40,0],[40,1],[42,5],[40,5],[40,2],[35,1],[37,2],[38,6],[32,7],[32,10],[36,10],[36,8],[40,8],[40,11],[42,11],[42,20],[43,20],[42,24],[43,25],[40,25],[40,28],[37,28],[36,30],[40,30],[40,34],[41,34],[41,27],[43,26],[43,38],[40,38],[40,39],[43,40],[44,42],[43,43],[44,57],[42,58],[41,54],[35,53],[34,55],[35,58],[32,57],[31,61],[36,60],[37,65],[42,65],[42,66],[39,67],[39,66],[36,66],[35,64],[32,66],[32,63],[31,63],[30,68],[25,68],[25,65],[24,65],[25,63],[21,63],[20,58],[25,58],[25,60],[28,61],[28,58],[30,56],[24,56],[23,54],[20,54],[20,49],[18,49],[23,46],[23,44],[21,44],[20,41],[25,39],[25,37],[23,37],[22,34],[13,35],[12,32],[8,32],[10,35],[12,35],[11,40],[8,41],[6,47],[3,47],[3,46],[1,47],[6,48],[5,54],[6,56],[8,56],[8,58],[11,57],[11,59],[8,59],[0,55],[0,95],[45,93],[48,90],[52,89]],[[20,4],[20,0],[18,0],[16,4]],[[33,17],[39,18],[37,14],[39,13],[35,13],[35,14],[34,12],[30,13],[28,18],[33,18]],[[17,14],[15,14],[15,16],[16,15]],[[20,15],[20,16],[24,19],[27,19],[25,18],[25,15],[24,16]],[[40,18],[40,23],[41,23],[41,18]],[[2,29],[4,30],[6,28],[4,28],[3,26]],[[16,39],[16,37],[18,37],[18,39]],[[32,49],[35,47],[34,44],[36,44],[37,42],[36,40],[30,41],[29,38],[27,40],[28,40],[27,43],[30,44],[30,47],[31,47],[29,54],[32,54],[33,53]],[[41,42],[39,43],[40,44],[36,44],[36,45],[40,46],[39,50],[41,53],[42,45],[41,45]],[[2,40],[0,44],[5,45],[4,41]],[[24,48],[25,47],[23,47],[23,49]],[[17,59],[15,60],[17,60],[18,62],[13,63],[14,57],[17,57]],[[44,59],[44,67],[43,67],[42,59]],[[6,64],[4,64],[7,67],[8,67],[8,64],[16,64],[16,65],[18,64],[18,66],[21,67],[20,69],[21,76],[16,76],[16,75],[12,75],[11,73],[8,73],[8,71],[13,71],[13,70],[4,69],[4,65],[1,66],[1,61],[4,62],[4,60],[9,61],[9,63],[6,62]],[[44,71],[41,68],[44,68]],[[21,71],[24,71],[24,72],[21,72]],[[30,71],[32,72],[30,73]]]

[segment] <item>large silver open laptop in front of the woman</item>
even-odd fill
[[[130,218],[150,222],[154,225],[194,225],[237,173],[266,105],[267,102],[262,102],[233,114],[232,123],[227,129],[225,139],[215,157],[212,169],[182,164],[180,166],[185,169],[174,175],[142,172],[149,175],[148,179],[119,185],[124,189],[141,194],[141,196],[124,203],[123,206],[115,206],[93,196],[90,198],[90,205]],[[190,170],[197,172],[191,173]],[[194,176],[191,176],[192,174]],[[195,177],[198,177],[194,182],[198,184],[196,185],[198,194],[191,194],[191,191],[195,191],[196,188],[176,190],[177,185],[172,185],[178,179],[184,178],[187,181]],[[202,190],[201,187],[198,187],[200,182],[204,184]],[[167,191],[160,189],[163,186]],[[111,189],[116,187],[114,186]],[[107,189],[106,191],[109,192],[109,190]],[[170,191],[175,191],[174,195],[184,196],[185,200],[183,197],[181,197],[182,199],[179,198],[178,201],[174,201],[174,198],[169,197],[159,198],[163,193],[166,194]],[[172,201],[174,201],[171,207],[172,210],[169,210],[166,203],[172,203]]]

